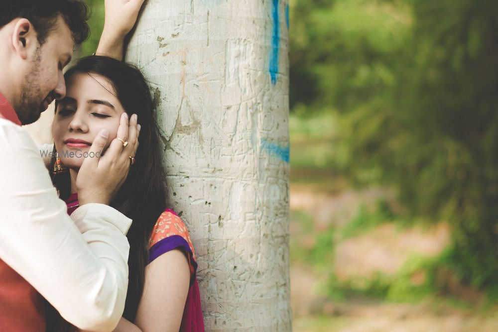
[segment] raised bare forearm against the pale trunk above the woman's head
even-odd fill
[[[124,37],[136,22],[144,0],[106,0],[104,30],[97,55],[123,60]]]

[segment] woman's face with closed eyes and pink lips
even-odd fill
[[[66,82],[66,97],[58,103],[52,122],[55,148],[62,163],[71,169],[81,167],[88,155],[85,152],[101,129],[109,130],[105,149],[109,147],[124,112],[111,84],[102,76],[90,75],[71,75]]]

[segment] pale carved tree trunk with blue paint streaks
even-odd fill
[[[291,330],[287,12],[287,0],[148,0],[127,47],[156,101],[207,331]]]

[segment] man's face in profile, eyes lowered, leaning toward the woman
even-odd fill
[[[56,28],[49,33],[45,43],[31,54],[17,110],[22,124],[36,121],[54,99],[66,95],[62,68],[71,60],[73,47],[71,31],[59,16]]]

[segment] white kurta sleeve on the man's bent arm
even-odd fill
[[[0,259],[73,325],[111,331],[124,310],[131,220],[103,204],[70,216],[25,130],[0,117]]]

